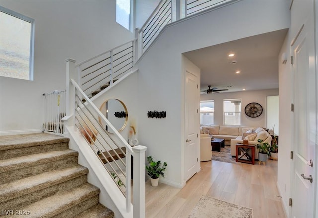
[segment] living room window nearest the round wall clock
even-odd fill
[[[223,100],[223,124],[240,125],[241,124],[241,99]]]

